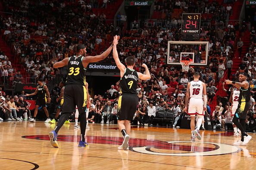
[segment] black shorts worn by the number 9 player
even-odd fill
[[[138,105],[137,94],[122,94],[118,100],[117,119],[132,121]]]

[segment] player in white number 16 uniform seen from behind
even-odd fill
[[[206,85],[199,81],[200,73],[195,72],[194,80],[187,84],[186,101],[184,111],[190,115],[191,141],[201,140],[200,127],[204,120],[203,113],[206,111],[207,94]],[[189,103],[189,104],[188,104]],[[188,109],[187,109],[188,107]],[[197,114],[197,128],[195,129],[195,115]],[[195,129],[195,130],[194,130]]]

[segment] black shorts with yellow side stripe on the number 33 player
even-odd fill
[[[86,112],[87,91],[84,85],[68,84],[64,89],[64,103],[62,112],[75,112],[75,106],[78,108],[79,115]]]

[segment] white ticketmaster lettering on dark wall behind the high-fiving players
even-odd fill
[[[119,71],[116,64],[111,63],[91,63],[87,66],[87,70],[94,70],[94,71]]]

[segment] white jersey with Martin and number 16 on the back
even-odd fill
[[[190,98],[203,99],[203,82],[201,81],[191,81],[190,82]]]

